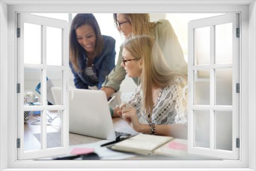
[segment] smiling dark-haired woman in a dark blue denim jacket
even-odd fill
[[[101,88],[115,68],[116,40],[101,35],[93,14],[77,14],[70,28],[70,68],[77,89]]]

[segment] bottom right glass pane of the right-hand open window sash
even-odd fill
[[[216,149],[232,151],[232,112],[216,111]]]

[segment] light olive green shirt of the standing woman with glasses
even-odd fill
[[[169,21],[160,19],[155,22],[155,27],[152,30],[151,36],[156,40],[158,46],[162,50],[168,66],[174,71],[187,76],[187,62],[184,59],[179,40]],[[121,45],[116,68],[114,68],[111,73],[106,76],[102,87],[111,87],[116,91],[119,90],[120,84],[126,75],[124,68],[121,66],[122,50],[123,46]],[[133,79],[137,84],[138,77]]]

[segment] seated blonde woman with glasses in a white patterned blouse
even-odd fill
[[[166,65],[155,40],[149,36],[127,40],[121,66],[127,76],[141,82],[127,102],[132,108],[123,103],[111,109],[113,117],[122,116],[137,132],[187,138],[187,101],[182,96],[187,82]]]

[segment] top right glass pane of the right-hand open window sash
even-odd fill
[[[232,23],[215,26],[216,63],[232,63]]]

